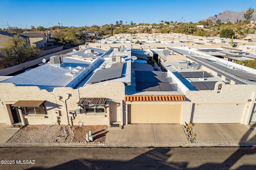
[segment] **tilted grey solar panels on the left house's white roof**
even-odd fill
[[[95,83],[105,80],[111,80],[122,76],[124,63],[113,63],[110,68],[97,70],[86,83]]]

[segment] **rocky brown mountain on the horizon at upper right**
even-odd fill
[[[220,12],[219,14],[215,14],[214,16],[208,17],[202,21],[212,20],[212,22],[214,22],[214,23],[218,19],[220,19],[222,23],[228,22],[228,21],[230,21],[231,23],[238,22],[240,20],[244,21],[244,20],[246,20],[244,17],[246,11],[247,10],[244,10],[242,12],[234,12],[234,11],[226,10],[226,11]],[[256,19],[256,10],[254,10],[254,13],[252,14],[252,19],[254,19],[254,20]]]

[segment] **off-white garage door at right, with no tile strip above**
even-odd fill
[[[193,123],[240,123],[244,104],[195,104]]]

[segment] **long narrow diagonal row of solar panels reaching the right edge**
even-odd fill
[[[211,64],[212,66],[214,67],[217,67],[225,72],[229,72],[235,76],[238,76],[240,78],[243,78],[244,80],[251,80],[251,81],[256,81],[256,74],[251,74],[251,73],[248,73],[248,72],[243,72],[243,71],[240,71],[240,70],[235,70],[235,69],[231,69],[231,68],[226,68],[224,66],[221,66],[219,64],[216,64],[216,63],[212,63],[211,61],[207,60],[207,59],[203,59],[203,58],[199,58],[199,57],[195,57],[196,59],[198,60],[201,60],[205,63],[208,63],[208,64]]]

